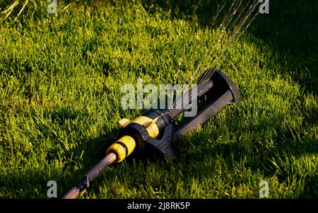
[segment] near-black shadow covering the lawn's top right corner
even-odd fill
[[[259,15],[249,33],[253,42],[269,45],[283,67],[305,91],[318,91],[317,1],[271,1],[270,13]]]

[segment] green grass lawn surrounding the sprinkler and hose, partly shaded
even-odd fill
[[[58,1],[57,15],[30,4],[1,20],[1,198],[45,198],[49,180],[64,195],[102,157],[118,120],[142,113],[121,108],[122,85],[188,82],[207,47],[218,52],[222,32],[210,13],[189,12],[192,1],[70,2]],[[298,8],[271,2],[216,64],[240,105],[175,144],[175,159],[111,166],[84,197],[257,198],[267,180],[271,198],[317,198],[317,4]]]

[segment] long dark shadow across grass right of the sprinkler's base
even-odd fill
[[[290,195],[292,197],[317,197],[317,173],[314,170],[308,170],[305,164],[302,164],[314,160],[308,156],[318,154],[317,143],[313,139],[306,140],[302,144],[288,141],[276,147],[268,147],[266,144],[258,142],[245,144],[239,141],[227,144],[213,143],[211,146],[211,144],[206,143],[205,138],[204,134],[196,134],[188,137],[185,142],[175,144],[174,163],[177,167],[176,170],[182,171],[184,174],[182,180],[196,178],[199,181],[204,181],[206,178],[213,179],[216,177],[216,171],[222,170],[223,174],[217,174],[220,175],[220,180],[234,185],[252,184],[249,183],[249,180],[254,177],[249,177],[247,172],[250,169],[253,174],[260,172],[264,178],[277,176],[278,182],[286,185],[286,190],[299,184],[299,191],[293,192]],[[216,141],[217,138],[216,134],[211,137],[211,140]],[[273,138],[273,140],[280,141],[280,137]],[[193,144],[195,142],[195,149],[190,142]],[[285,164],[285,161],[288,163]],[[165,167],[169,169],[168,166],[170,164]],[[222,167],[220,168],[220,166]],[[302,183],[304,184],[302,185]]]

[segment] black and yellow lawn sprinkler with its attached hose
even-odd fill
[[[187,110],[187,105],[182,108],[169,110],[149,110],[134,120],[126,118],[119,121],[122,127],[117,140],[107,149],[106,156],[91,169],[78,184],[64,195],[64,199],[76,198],[86,192],[90,183],[100,172],[112,163],[119,163],[132,153],[143,156],[156,156],[167,159],[173,156],[172,137],[174,140],[182,137],[187,131],[203,125],[211,117],[222,110],[231,102],[240,102],[240,92],[225,74],[217,69],[208,69],[201,76],[208,78],[197,87],[197,96],[191,97],[189,103],[204,99],[204,108],[186,122],[182,127],[173,131],[172,122]],[[199,79],[200,80],[200,79]]]

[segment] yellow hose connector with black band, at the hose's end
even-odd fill
[[[135,148],[136,142],[134,138],[129,135],[124,135],[107,149],[107,154],[109,154],[110,151],[114,151],[117,155],[116,162],[119,163],[129,156]]]

